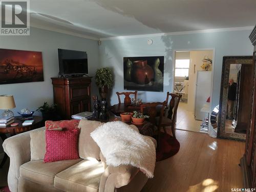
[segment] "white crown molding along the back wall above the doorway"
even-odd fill
[[[100,38],[100,40],[114,40],[114,39],[142,38],[142,37],[158,37],[158,36],[167,36],[167,35],[187,35],[187,34],[196,34],[196,33],[216,33],[216,32],[245,31],[245,30],[253,30],[253,26],[236,27],[236,28],[223,28],[223,29],[207,29],[207,30],[198,30],[198,31],[181,31],[181,32],[172,32],[172,33],[155,33],[155,34],[143,34],[143,35],[127,35],[127,36],[105,37],[105,38]]]

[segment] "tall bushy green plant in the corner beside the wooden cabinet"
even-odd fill
[[[95,82],[99,88],[99,94],[102,100],[106,100],[108,90],[113,86],[113,78],[110,68],[97,69],[95,74]]]

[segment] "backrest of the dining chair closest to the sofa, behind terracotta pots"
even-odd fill
[[[164,113],[164,108],[166,106],[166,101],[164,102],[152,102],[152,103],[144,103],[140,105],[140,112],[145,114],[145,111],[147,112],[146,115],[150,116],[148,119],[151,123],[154,125],[156,124],[156,117],[159,115],[159,122],[162,122],[162,117]],[[157,114],[157,106],[161,106],[160,114]]]

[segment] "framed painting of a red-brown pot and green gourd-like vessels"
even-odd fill
[[[124,90],[163,92],[164,56],[123,57]]]

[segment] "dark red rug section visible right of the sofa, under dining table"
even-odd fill
[[[161,133],[160,142],[157,145],[157,161],[162,161],[174,156],[180,150],[180,143],[173,136]]]

